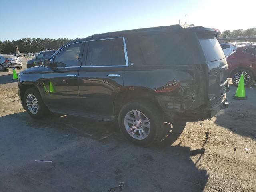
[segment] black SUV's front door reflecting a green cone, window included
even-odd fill
[[[84,42],[70,44],[51,59],[42,74],[46,104],[64,112],[76,111],[79,106],[78,72]]]

